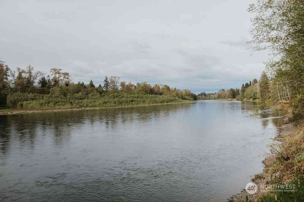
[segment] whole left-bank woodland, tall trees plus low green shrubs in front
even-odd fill
[[[133,84],[119,76],[105,76],[103,84],[91,80],[73,83],[71,75],[51,68],[45,76],[29,65],[11,70],[0,61],[0,105],[22,109],[109,107],[135,104],[158,104],[197,100],[189,90],[170,88],[166,84]]]

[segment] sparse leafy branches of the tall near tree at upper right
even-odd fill
[[[272,54],[266,65],[292,87],[304,87],[304,2],[302,0],[258,0],[248,11],[254,13],[251,35],[254,51],[269,50]]]

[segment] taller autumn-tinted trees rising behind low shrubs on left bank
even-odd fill
[[[93,80],[88,84],[83,81],[72,82],[70,73],[60,68],[51,68],[49,75],[45,76],[41,71],[35,71],[31,65],[25,69],[17,67],[13,71],[0,61],[0,105],[14,106],[20,102],[18,98],[20,96],[24,97],[23,101],[41,98],[39,95],[56,95],[65,98],[74,96],[75,99],[87,99],[98,94],[102,97],[103,94],[109,94],[108,91],[120,91],[130,95],[166,95],[181,100],[197,99],[196,94],[189,90],[170,88],[166,84],[153,86],[147,82],[133,84],[130,81],[120,81],[119,76],[105,76],[103,84],[95,86]]]

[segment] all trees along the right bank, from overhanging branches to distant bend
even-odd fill
[[[215,94],[199,94],[199,99],[255,100],[261,102],[292,100],[294,116],[304,116],[304,3],[300,0],[259,0],[251,4],[250,33],[253,51],[268,50],[265,71],[258,82],[244,84],[237,89]],[[294,98],[294,99],[292,99]],[[296,115],[298,114],[298,115]]]

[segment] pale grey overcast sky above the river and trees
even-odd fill
[[[0,7],[0,60],[169,84],[195,93],[240,88],[258,78],[265,53],[246,50],[255,0],[12,1]]]

